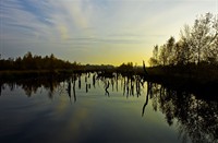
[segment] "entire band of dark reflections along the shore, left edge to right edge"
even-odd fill
[[[149,116],[146,112],[148,105],[155,111],[165,115],[166,122],[171,127],[177,124],[179,138],[186,142],[191,139],[193,143],[218,142],[218,103],[207,98],[201,98],[190,92],[174,91],[161,84],[145,82],[140,75],[107,75],[102,73],[75,73],[72,75],[50,75],[16,81],[0,81],[0,95],[7,86],[14,91],[22,87],[27,97],[35,93],[48,91],[48,97],[53,98],[55,94],[66,95],[72,103],[77,102],[77,91],[85,93],[92,88],[102,85],[102,95],[110,97],[114,92],[121,91],[123,96],[145,96],[145,102],[140,111],[142,116]],[[143,90],[146,87],[146,92]],[[80,97],[80,96],[78,96]],[[80,99],[80,98],[78,98]],[[72,102],[73,100],[73,102]]]

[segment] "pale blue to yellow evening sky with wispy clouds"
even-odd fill
[[[207,12],[218,13],[218,0],[0,0],[0,55],[141,65]]]

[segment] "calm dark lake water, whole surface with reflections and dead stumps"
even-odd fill
[[[140,76],[0,83],[0,143],[218,142],[218,103]]]

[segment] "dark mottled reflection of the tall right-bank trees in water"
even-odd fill
[[[217,100],[197,98],[189,92],[173,91],[158,84],[147,84],[153,108],[158,108],[166,116],[169,126],[177,121],[179,138],[182,138],[183,142],[189,138],[193,143],[218,142]]]

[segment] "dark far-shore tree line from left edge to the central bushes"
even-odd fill
[[[82,65],[77,62],[69,62],[55,57],[53,53],[50,56],[33,56],[31,51],[25,53],[23,57],[17,57],[15,59],[0,59],[0,70],[74,70],[74,71],[111,71],[111,72],[133,72],[133,62],[122,63],[119,67],[113,67],[111,64],[93,65],[86,64]]]

